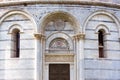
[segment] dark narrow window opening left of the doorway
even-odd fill
[[[12,58],[18,58],[20,56],[20,30],[14,29],[12,32]]]

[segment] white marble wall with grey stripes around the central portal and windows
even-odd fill
[[[73,42],[70,46],[73,48],[72,55],[75,56],[72,60],[74,62],[70,64],[74,69],[77,64],[78,70],[83,69],[83,74],[81,76],[78,73],[81,71],[73,69],[73,72],[82,78],[76,78],[74,75],[71,80],[120,79],[119,9],[89,5],[35,4],[0,7],[0,80],[47,80],[43,78],[46,73],[43,69],[46,64],[44,58],[46,45],[49,45],[46,44],[49,34],[48,32],[47,35],[44,34],[44,31],[48,21],[54,20],[53,15],[56,15],[55,18],[58,16],[68,19],[74,28],[72,33],[66,31],[63,33],[68,36],[66,37],[69,38],[68,42],[71,40]],[[11,31],[14,28],[20,29],[19,58],[11,58],[13,48]],[[105,58],[98,56],[97,30],[101,28],[106,31]],[[36,38],[35,34],[38,38],[47,37],[41,40]],[[74,40],[76,34],[85,34],[82,46],[78,45],[81,42],[76,43]],[[54,38],[58,36],[60,35],[57,34]],[[80,59],[77,59],[77,56]],[[82,61],[82,66],[79,60]]]

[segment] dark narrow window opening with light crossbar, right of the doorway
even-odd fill
[[[99,58],[104,58],[104,30],[98,31]]]

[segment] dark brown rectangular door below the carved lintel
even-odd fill
[[[49,80],[70,80],[70,65],[49,64]]]

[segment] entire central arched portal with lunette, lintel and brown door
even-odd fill
[[[43,22],[46,36],[43,53],[43,80],[75,80],[76,58],[73,36],[79,32],[72,17],[63,12],[51,13]]]

